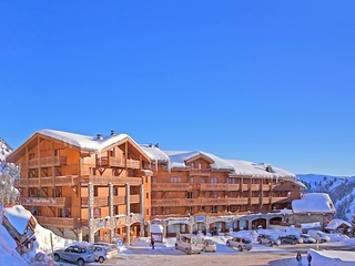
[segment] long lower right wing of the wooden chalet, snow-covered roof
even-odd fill
[[[294,174],[264,163],[142,149],[152,162],[152,223],[162,224],[166,236],[268,228],[288,221],[292,211],[281,211],[306,188]]]

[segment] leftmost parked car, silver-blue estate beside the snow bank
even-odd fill
[[[95,260],[92,250],[84,246],[69,246],[67,248],[57,249],[54,252],[54,260],[59,262],[60,259],[77,263],[79,266]]]

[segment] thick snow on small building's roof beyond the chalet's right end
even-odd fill
[[[332,198],[326,193],[304,194],[301,200],[292,202],[294,213],[335,213]]]

